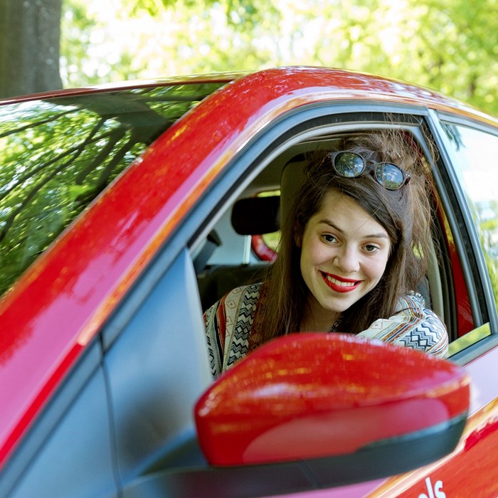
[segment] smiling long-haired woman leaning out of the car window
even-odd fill
[[[309,158],[265,282],[204,314],[213,376],[291,332],[347,332],[444,356],[445,325],[414,292],[430,250],[429,192],[428,165],[403,132],[359,134]]]

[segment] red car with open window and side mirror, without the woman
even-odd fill
[[[449,358],[292,334],[213,384],[203,309],[271,265],[283,166],[381,127],[438,148]],[[344,70],[1,101],[0,496],[498,496],[497,157],[494,117]]]

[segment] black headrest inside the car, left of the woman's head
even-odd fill
[[[280,196],[248,197],[235,202],[232,226],[239,235],[263,235],[280,230]]]

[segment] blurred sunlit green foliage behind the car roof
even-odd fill
[[[53,23],[61,28],[64,86],[326,65],[418,83],[498,115],[498,0],[0,0],[0,5],[57,1],[62,11]],[[0,7],[5,96],[6,79],[17,75],[14,61],[24,61],[6,54],[6,41],[17,28],[1,14]]]

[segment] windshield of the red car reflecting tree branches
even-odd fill
[[[221,83],[0,107],[0,295],[165,129]]]

